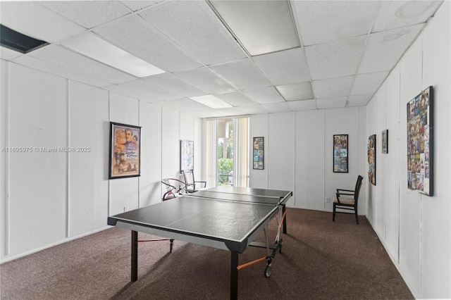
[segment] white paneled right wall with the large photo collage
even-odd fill
[[[451,3],[445,1],[366,108],[377,151],[367,218],[416,298],[451,298]],[[407,189],[407,102],[433,86],[434,195]]]

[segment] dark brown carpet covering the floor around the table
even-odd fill
[[[265,262],[240,270],[240,299],[413,299],[365,217],[356,225],[353,215],[287,215],[271,277]],[[273,221],[271,237],[275,230]],[[140,243],[131,283],[130,230],[104,230],[2,264],[1,299],[229,299],[229,251],[179,241],[168,250],[168,242]],[[249,247],[240,264],[265,255]]]

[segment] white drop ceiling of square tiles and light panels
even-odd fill
[[[365,106],[442,2],[1,1],[2,25],[49,45],[0,55],[199,118]],[[86,36],[159,72],[92,58]]]

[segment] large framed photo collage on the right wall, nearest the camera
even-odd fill
[[[433,89],[407,103],[407,187],[433,196]]]

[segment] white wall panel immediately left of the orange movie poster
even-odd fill
[[[80,150],[68,154],[69,237],[76,237],[106,227],[109,93],[69,81],[69,111],[68,146]]]

